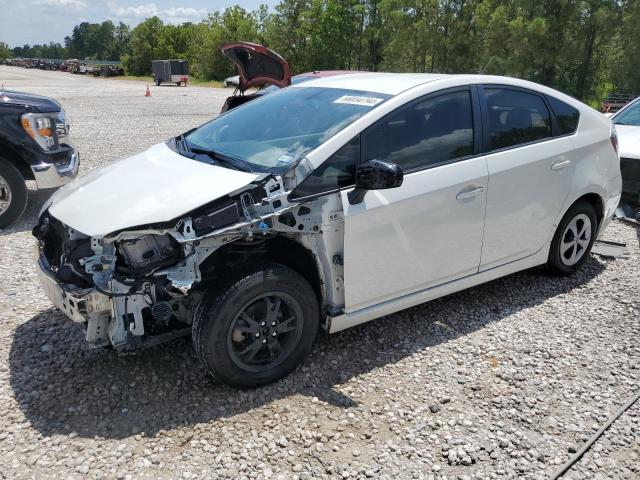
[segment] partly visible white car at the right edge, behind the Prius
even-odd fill
[[[640,97],[611,117],[620,143],[622,202],[640,207]]]

